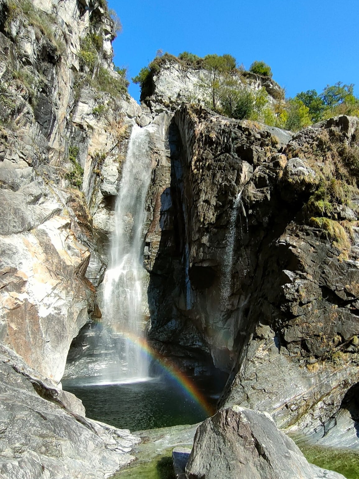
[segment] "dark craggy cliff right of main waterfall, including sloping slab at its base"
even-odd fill
[[[233,367],[222,404],[324,434],[358,381],[358,190],[346,160],[358,120],[292,138],[184,105],[167,128],[149,189],[149,339],[195,372]]]

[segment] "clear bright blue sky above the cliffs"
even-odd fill
[[[158,49],[270,65],[287,96],[337,81],[359,96],[359,0],[109,0],[123,25],[114,63],[135,76]],[[139,101],[139,87],[130,94]]]

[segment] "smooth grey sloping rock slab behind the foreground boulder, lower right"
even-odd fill
[[[344,362],[336,369],[321,365],[315,374],[310,365],[300,367],[300,360],[282,350],[269,326],[256,328],[246,358],[246,372],[226,391],[226,404],[268,411],[278,427],[317,431],[317,438],[325,434],[322,425],[340,408],[348,384],[357,378],[357,366]]]

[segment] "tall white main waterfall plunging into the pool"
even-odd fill
[[[146,378],[147,361],[141,351],[143,268],[142,228],[151,178],[148,128],[135,125],[130,137],[116,200],[111,260],[104,277],[103,319],[119,343],[119,363],[107,371],[109,381]]]

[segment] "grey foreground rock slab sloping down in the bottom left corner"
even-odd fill
[[[0,475],[103,478],[131,462],[140,439],[86,419],[81,401],[0,351]]]

